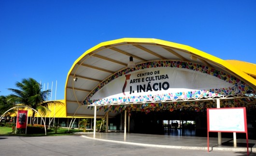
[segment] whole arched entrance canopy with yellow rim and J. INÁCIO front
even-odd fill
[[[130,60],[135,67],[128,68]],[[159,39],[122,38],[103,42],[85,51],[68,73],[67,115],[92,117],[91,106],[106,106],[104,111],[97,112],[98,117],[103,117],[108,108],[116,105],[255,99],[255,72],[234,64]],[[109,112],[109,117],[116,113]]]

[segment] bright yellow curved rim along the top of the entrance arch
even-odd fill
[[[163,47],[176,48],[176,49],[186,51],[190,54],[200,56],[200,59],[203,59],[205,61],[211,61],[211,62],[219,65],[220,68],[222,68],[224,71],[230,72],[235,77],[238,77],[239,79],[241,79],[242,81],[244,81],[245,83],[247,83],[248,85],[250,85],[252,88],[254,88],[256,90],[256,79],[249,76],[245,72],[241,71],[239,68],[235,67],[234,65],[231,65],[230,62],[222,60],[220,58],[217,58],[213,55],[210,55],[208,53],[200,51],[196,48],[192,48],[192,47],[189,47],[186,45],[173,43],[173,42],[169,42],[169,41],[164,41],[164,40],[160,40],[160,39],[154,39],[154,38],[121,38],[121,39],[102,42],[102,43],[88,49],[77,60],[75,60],[75,62],[73,63],[73,65],[67,75],[67,80],[66,80],[66,84],[65,84],[65,101],[66,101],[66,87],[68,84],[69,75],[72,72],[72,70],[74,69],[75,65],[80,60],[82,60],[87,54],[90,54],[93,51],[102,50],[104,48],[115,47],[117,44],[120,44],[120,43],[124,43],[124,44],[125,43],[138,43],[138,44],[145,43],[145,44],[153,44],[153,45],[158,45],[158,46],[163,46]]]

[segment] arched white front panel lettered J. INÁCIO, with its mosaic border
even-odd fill
[[[165,83],[164,79],[170,79],[171,74],[168,73],[169,69],[179,69],[179,71],[190,71],[190,72],[196,72],[196,73],[201,73],[203,75],[209,75],[209,88],[207,88],[207,85],[203,89],[182,89],[182,88],[174,88],[174,90],[171,90],[172,85]],[[143,80],[144,77],[138,78],[138,79],[133,79],[132,81],[129,80],[129,76],[132,75],[132,73],[139,73],[140,71],[144,71],[146,69],[152,69],[152,74],[151,73],[145,73],[142,72],[142,74],[146,75],[145,79]],[[161,69],[161,70],[158,70]],[[161,71],[167,69],[167,74],[162,74]],[[160,72],[158,72],[160,71]],[[155,72],[155,73],[154,73]],[[156,76],[151,76],[153,74],[156,74]],[[143,75],[143,76],[144,76]],[[140,75],[137,75],[140,77]],[[108,84],[114,83],[118,79],[123,79],[122,82],[126,82],[123,85],[123,93],[119,94],[118,96],[106,96],[106,98],[98,98],[95,96],[97,95],[97,92],[102,91],[104,86],[107,86]],[[147,80],[147,85],[135,85],[132,86],[131,84],[136,84],[136,83],[142,83],[142,81]],[[159,83],[155,84],[150,84],[150,82],[158,82],[154,78],[158,79]],[[199,76],[189,76],[187,74],[186,79],[201,79]],[[210,85],[210,78],[217,78],[219,81],[218,82],[224,82],[223,87],[217,88],[214,87],[213,85]],[[162,80],[160,80],[162,79]],[[115,81],[114,81],[115,80]],[[125,90],[129,90],[127,88],[127,80],[129,80],[130,88],[136,88],[137,86],[137,92],[141,89],[144,91],[143,94],[136,93],[136,89],[130,89],[130,91],[126,92]],[[181,80],[183,80],[181,78]],[[178,85],[180,84],[185,84],[186,82],[179,81]],[[195,80],[195,82],[197,82]],[[164,84],[165,83],[165,84]],[[228,85],[227,85],[228,84]],[[150,85],[150,86],[149,86]],[[176,85],[176,84],[175,84]],[[142,88],[139,88],[142,86]],[[160,88],[159,88],[160,87]],[[107,87],[105,87],[107,88]],[[166,90],[166,92],[154,92],[159,91],[162,88],[162,90]],[[140,91],[141,91],[140,90]],[[149,90],[149,92],[146,91]],[[134,93],[135,91],[135,93]],[[153,91],[153,92],[151,92]],[[129,94],[127,94],[129,93]],[[134,94],[133,94],[134,93]],[[146,94],[149,93],[149,94]],[[153,94],[152,94],[153,93]],[[102,93],[103,94],[103,93]],[[104,94],[108,94],[107,90],[104,91]],[[122,95],[123,94],[123,95]],[[199,64],[194,64],[191,62],[183,62],[183,61],[168,61],[168,60],[161,60],[161,61],[150,61],[150,62],[145,62],[138,64],[136,68],[132,69],[124,69],[122,71],[116,72],[112,76],[108,77],[105,81],[103,81],[98,87],[96,87],[95,90],[93,90],[86,98],[84,101],[85,105],[106,105],[106,104],[127,104],[127,103],[157,103],[157,102],[166,102],[166,101],[173,101],[173,100],[182,100],[182,99],[190,99],[190,98],[200,98],[200,97],[213,97],[213,96],[229,96],[229,95],[242,95],[242,94],[255,94],[255,90],[253,90],[252,87],[248,86],[245,84],[243,81],[239,80],[236,77],[233,77],[231,75],[228,75],[227,73],[215,70],[213,68],[204,66],[204,65],[199,65]],[[130,96],[129,96],[130,95]],[[92,99],[94,97],[94,99]]]

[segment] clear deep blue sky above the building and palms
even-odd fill
[[[256,0],[0,0],[0,95],[32,77],[64,99],[73,62],[124,37],[256,63]]]

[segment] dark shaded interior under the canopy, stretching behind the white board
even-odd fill
[[[249,139],[256,139],[255,114],[255,110],[247,111]],[[132,133],[207,137],[206,110],[131,111],[127,115],[130,116],[129,132]],[[114,123],[117,127],[116,130],[123,131],[124,111],[119,113],[115,118],[110,119],[110,123]],[[216,132],[210,132],[209,135],[210,137],[217,137]],[[232,138],[233,133],[223,132],[222,137]],[[237,138],[246,138],[246,135],[245,133],[237,133]]]

